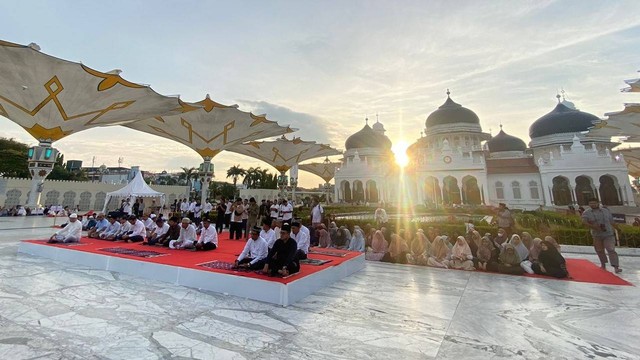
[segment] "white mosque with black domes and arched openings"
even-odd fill
[[[475,112],[447,91],[407,149],[404,172],[395,165],[382,123],[367,124],[345,142],[335,174],[338,202],[395,202],[399,193],[426,206],[497,205],[536,209],[586,205],[635,206],[629,171],[610,137],[586,134],[600,119],[558,95],[549,113],[529,127],[529,145],[501,127],[483,132]],[[402,180],[400,180],[402,179]]]

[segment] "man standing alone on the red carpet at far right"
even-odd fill
[[[613,230],[615,222],[613,216],[607,208],[601,208],[598,199],[589,199],[589,208],[582,213],[582,223],[591,230],[593,238],[593,247],[600,259],[600,267],[607,269],[607,256],[604,250],[607,249],[609,254],[609,262],[615,269],[616,273],[621,273],[622,269],[618,262],[618,253],[616,253],[616,237]]]

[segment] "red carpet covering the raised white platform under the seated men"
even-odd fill
[[[266,275],[257,274],[254,271],[245,272],[245,271],[234,271],[234,270],[224,270],[224,269],[212,269],[204,266],[199,266],[199,264],[211,262],[215,260],[232,263],[238,258],[238,255],[242,252],[242,249],[244,249],[246,240],[229,240],[229,234],[226,232],[218,236],[219,247],[216,250],[212,250],[212,251],[171,250],[165,247],[141,245],[140,243],[131,244],[131,243],[113,242],[113,241],[105,241],[105,240],[98,240],[98,239],[91,239],[91,238],[82,238],[82,241],[80,242],[80,244],[72,244],[72,245],[47,244],[46,241],[43,241],[43,240],[24,240],[24,241],[29,243],[39,244],[39,245],[46,245],[46,246],[52,246],[57,248],[64,248],[64,249],[69,249],[74,251],[88,252],[88,253],[94,253],[94,254],[100,254],[100,255],[115,256],[115,257],[121,257],[126,259],[132,259],[136,261],[144,261],[144,262],[170,265],[170,266],[179,266],[179,267],[191,268],[191,269],[202,270],[202,271],[219,272],[219,273],[235,275],[235,276],[259,278],[262,280],[280,282],[282,284],[288,284],[292,281],[297,280],[298,278],[311,275],[313,273],[322,271],[329,267],[340,265],[345,261],[348,261],[359,255],[362,255],[361,253],[357,253],[357,252],[334,250],[334,249],[329,250],[329,252],[335,253],[336,255],[344,255],[344,256],[309,254],[310,259],[329,260],[329,262],[319,266],[301,264],[299,273],[283,279],[278,277],[269,277]],[[116,247],[136,249],[136,250],[155,251],[155,252],[166,254],[166,255],[143,258],[138,256],[129,256],[125,254],[114,254],[111,252],[101,250],[105,248],[116,248]],[[326,250],[326,249],[322,249],[322,250]]]

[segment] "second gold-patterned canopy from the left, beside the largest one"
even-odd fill
[[[213,158],[227,148],[247,141],[293,132],[264,115],[222,105],[209,97],[193,104],[195,110],[171,116],[156,116],[126,124],[126,127],[177,141],[195,150],[203,158]]]

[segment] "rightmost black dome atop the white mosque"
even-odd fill
[[[558,103],[553,111],[531,124],[529,137],[533,139],[545,135],[587,131],[598,120],[600,119],[595,115]]]

